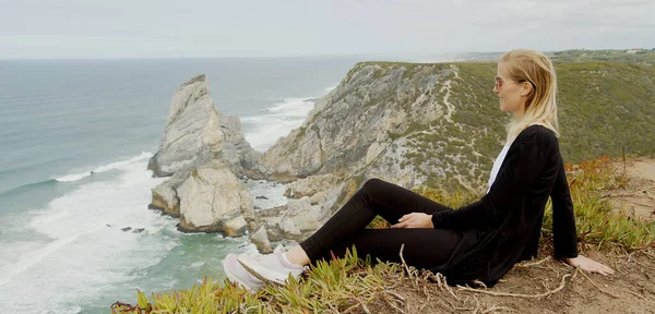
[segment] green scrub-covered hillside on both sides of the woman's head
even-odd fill
[[[385,80],[389,73],[403,70],[403,80],[414,80],[414,90],[421,96],[420,80],[444,65],[362,62],[352,73],[374,65],[374,75]],[[455,72],[441,77],[443,88],[430,94],[452,107],[449,118],[395,130],[391,138],[409,138],[409,153],[403,165],[428,178],[426,185],[448,191],[483,186],[492,162],[502,148],[504,125],[510,114],[499,110],[492,93],[496,63],[454,63]],[[580,162],[600,155],[655,155],[655,67],[610,62],[558,63],[558,106],[560,146],[565,162]],[[420,72],[417,77],[414,73]],[[345,78],[347,80],[347,77]],[[400,84],[398,84],[400,85]],[[394,90],[389,94],[393,97]],[[415,98],[417,98],[415,97]],[[409,98],[397,108],[408,107]],[[398,101],[398,100],[396,100]],[[448,102],[448,104],[446,104]],[[393,133],[395,132],[395,133]],[[444,176],[436,169],[443,169]],[[421,172],[422,171],[422,172]],[[425,172],[425,173],[424,173]]]

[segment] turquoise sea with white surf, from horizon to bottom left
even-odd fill
[[[108,313],[117,300],[222,280],[242,238],[183,234],[147,209],[170,98],[207,74],[216,109],[264,152],[300,125],[348,58],[0,61],[3,313]],[[92,173],[93,171],[93,173]],[[121,228],[143,228],[135,233]]]

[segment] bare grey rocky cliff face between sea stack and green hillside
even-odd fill
[[[291,182],[287,197],[308,196],[289,206],[305,213],[297,219],[309,224],[271,221],[275,227],[271,227],[270,235],[277,238],[277,230],[285,238],[306,237],[310,232],[303,230],[331,217],[370,178],[408,189],[425,183],[430,176],[445,179],[442,168],[448,165],[439,160],[434,165],[416,162],[419,158],[412,154],[417,143],[425,141],[412,141],[408,135],[439,133],[448,123],[452,114],[448,93],[456,76],[457,69],[449,64],[357,64],[315,102],[302,125],[279,138],[258,164],[265,178]],[[445,123],[432,125],[434,121]]]

